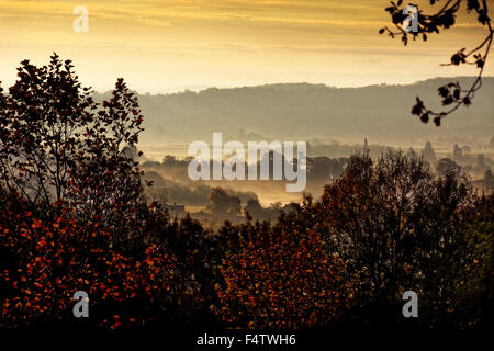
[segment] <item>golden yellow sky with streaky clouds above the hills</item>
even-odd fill
[[[415,1],[425,5],[428,0]],[[490,1],[491,2],[491,1]],[[379,35],[386,0],[0,0],[0,80],[10,86],[25,58],[53,52],[75,61],[99,91],[124,77],[139,92],[183,88],[313,82],[337,87],[407,83],[475,75],[440,67],[484,37],[473,15],[404,47]],[[89,32],[75,33],[72,10],[89,10]],[[464,11],[463,11],[464,12]],[[490,60],[486,75],[494,73]]]

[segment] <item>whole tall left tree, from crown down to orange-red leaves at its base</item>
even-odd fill
[[[176,263],[149,235],[168,219],[125,151],[142,131],[137,99],[119,79],[96,103],[57,55],[18,71],[0,90],[0,326],[70,325],[76,291],[97,326],[153,320]]]

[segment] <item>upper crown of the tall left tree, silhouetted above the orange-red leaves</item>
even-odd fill
[[[66,204],[88,219],[139,201],[141,172],[124,148],[143,116],[123,79],[99,104],[56,54],[48,66],[22,61],[18,77],[7,94],[0,87],[0,181],[12,199],[49,212]]]

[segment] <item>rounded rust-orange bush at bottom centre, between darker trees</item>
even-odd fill
[[[353,280],[312,230],[249,225],[221,267],[214,312],[229,326],[307,328],[333,322],[348,308]]]

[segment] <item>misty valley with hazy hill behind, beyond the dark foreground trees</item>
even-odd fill
[[[324,185],[343,173],[351,155],[369,152],[379,158],[389,151],[424,157],[433,172],[454,170],[471,178],[479,190],[489,191],[494,168],[493,78],[484,79],[473,105],[448,117],[440,128],[409,114],[415,95],[428,97],[428,103],[436,107],[437,87],[449,80],[343,89],[272,84],[139,95],[145,115],[139,161],[153,183],[148,197],[166,201],[176,216],[191,213],[210,224],[244,220],[247,213],[261,220],[274,219],[291,202],[300,203],[307,194],[319,196]],[[457,80],[471,82],[465,77]],[[103,98],[105,94],[97,97]],[[305,191],[287,192],[289,182],[272,177],[262,181],[192,181],[188,166],[193,155],[188,155],[188,146],[195,140],[211,146],[215,132],[223,134],[223,145],[231,140],[245,146],[262,140],[306,141]]]

